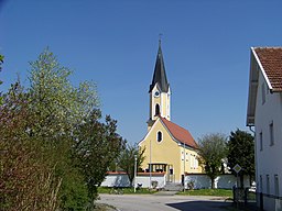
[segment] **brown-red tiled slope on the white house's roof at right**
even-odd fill
[[[272,91],[282,91],[282,47],[254,47],[254,52],[272,86]]]

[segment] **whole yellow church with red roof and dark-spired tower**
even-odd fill
[[[187,130],[171,121],[171,88],[161,41],[149,96],[148,132],[139,142],[139,146],[145,148],[141,168],[145,173],[165,173],[169,182],[183,182],[186,174],[202,173],[197,160],[197,143]]]

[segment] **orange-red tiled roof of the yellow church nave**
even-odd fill
[[[197,148],[197,143],[195,142],[195,140],[192,137],[191,133],[187,130],[166,120],[165,118],[160,118],[175,140],[180,141],[183,144],[186,144],[187,146]]]

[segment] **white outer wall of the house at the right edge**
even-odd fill
[[[261,87],[268,88],[267,82],[260,73],[258,95],[256,103],[256,177],[257,190],[264,195],[264,209],[276,210],[275,200],[268,196],[282,197],[282,93],[271,93],[267,90],[265,102],[262,103]],[[270,145],[270,123],[273,122],[274,144]],[[260,133],[262,133],[262,149],[260,144]],[[274,178],[278,177],[278,184],[274,184]],[[269,188],[267,178],[269,177]],[[279,187],[279,193],[275,192],[275,187]]]

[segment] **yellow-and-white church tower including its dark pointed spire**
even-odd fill
[[[159,49],[155,60],[153,80],[149,89],[150,95],[150,115],[148,120],[148,131],[159,116],[171,120],[171,89],[167,82],[161,40],[159,40]]]

